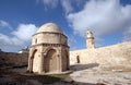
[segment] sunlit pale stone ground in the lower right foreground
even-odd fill
[[[105,85],[131,85],[131,66],[99,65],[95,68],[75,71],[70,76],[75,82],[82,83],[99,83]]]

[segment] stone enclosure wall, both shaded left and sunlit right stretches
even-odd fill
[[[99,63],[99,64],[131,64],[131,41],[95,48],[70,51],[70,64],[78,63]],[[27,65],[27,53],[0,52],[1,65]]]

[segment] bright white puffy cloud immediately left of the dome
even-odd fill
[[[31,40],[32,35],[36,33],[37,27],[34,24],[20,24],[17,29],[12,32],[19,39]]]

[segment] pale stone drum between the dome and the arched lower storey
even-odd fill
[[[37,40],[37,41],[36,41]],[[37,44],[62,44],[67,45],[67,36],[57,33],[39,33],[33,36],[32,45]]]

